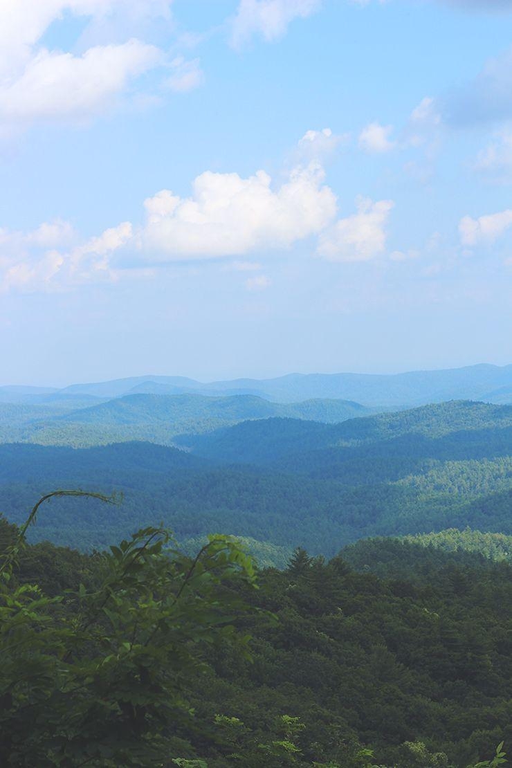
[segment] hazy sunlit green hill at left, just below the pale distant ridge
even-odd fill
[[[256,396],[134,394],[102,401],[55,395],[44,405],[0,402],[0,441],[87,448],[145,440],[173,445],[177,435],[211,432],[246,419],[273,416],[342,422],[372,409],[345,400],[309,400],[289,405]]]

